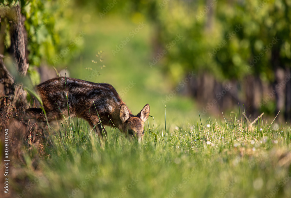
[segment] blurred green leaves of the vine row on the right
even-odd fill
[[[77,4],[94,4],[101,18],[122,13],[133,20],[150,20],[157,44],[167,50],[164,69],[173,77],[198,70],[221,80],[250,74],[272,82],[274,68],[290,67],[290,0],[108,0]],[[169,48],[177,35],[182,39]]]

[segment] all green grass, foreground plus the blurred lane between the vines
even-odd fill
[[[43,144],[23,146],[21,158],[13,160],[17,170],[11,184],[16,190],[13,197],[271,198],[291,194],[289,125],[259,119],[249,129],[241,113],[236,120],[234,114],[224,114],[225,119],[202,117],[200,121],[196,103],[177,94],[166,104],[165,131],[162,100],[177,85],[166,77],[162,61],[153,68],[148,65],[155,56],[151,27],[145,26],[113,56],[111,50],[137,24],[112,15],[102,20],[92,15],[90,22],[82,22],[82,15],[88,13],[76,17],[80,26],[75,31],[86,35],[81,55],[67,65],[70,77],[88,77],[91,71],[85,68],[98,69],[99,63],[91,60],[104,51],[106,67],[91,81],[110,83],[118,93],[129,82],[136,83],[122,99],[134,114],[149,103],[155,125],[151,117],[149,125],[145,122],[142,144],[107,128],[103,146],[84,120],[71,119],[71,129],[66,122],[60,128],[51,125]]]

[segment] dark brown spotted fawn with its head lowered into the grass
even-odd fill
[[[110,84],[56,77],[36,86],[36,91],[47,119],[40,108],[26,109],[30,118],[52,121],[78,116],[88,121],[99,137],[103,136],[102,131],[107,134],[104,125],[108,125],[139,141],[143,139],[143,123],[148,119],[150,106],[146,104],[137,116],[132,115]]]

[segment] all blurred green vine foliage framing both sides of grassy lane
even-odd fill
[[[14,4],[4,1],[6,6]],[[221,80],[251,74],[273,81],[275,67],[290,67],[290,0],[33,0],[20,4],[33,65],[67,63],[76,56],[74,51],[82,43],[74,40],[78,37],[74,8],[90,6],[101,19],[121,14],[137,23],[150,21],[157,45],[153,47],[157,56],[166,49],[163,67],[174,78],[197,70]],[[179,35],[181,39],[175,41]]]

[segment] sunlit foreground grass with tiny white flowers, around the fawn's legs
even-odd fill
[[[233,118],[234,119],[234,118]],[[209,127],[208,127],[209,124]],[[150,128],[152,125],[150,125]],[[260,130],[262,128],[262,130]],[[24,197],[288,197],[290,127],[208,120],[176,130],[145,125],[142,144],[107,128],[102,146],[83,120],[51,128],[15,162]],[[157,134],[157,139],[155,135]],[[41,151],[41,152],[40,152]],[[29,188],[31,187],[31,188]],[[270,194],[271,195],[271,194]]]

